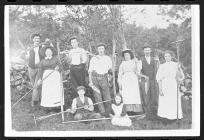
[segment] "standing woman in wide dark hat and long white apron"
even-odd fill
[[[140,75],[138,63],[129,49],[123,50],[122,56],[125,61],[119,67],[118,84],[127,114],[135,115],[143,112],[138,83],[138,75]]]

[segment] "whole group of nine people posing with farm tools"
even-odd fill
[[[33,107],[40,106],[50,112],[64,105],[62,95],[62,65],[54,45],[40,45],[41,36],[32,36],[33,47],[29,52],[29,76],[33,90]],[[88,53],[80,47],[78,38],[71,37],[68,42],[72,49],[66,54],[70,65],[70,81],[74,99],[67,111],[74,119],[111,117],[113,125],[130,126],[129,116],[145,114],[147,118],[159,116],[174,120],[182,118],[181,96],[177,86],[184,79],[181,66],[172,61],[173,52],[165,51],[165,63],[151,56],[152,48],[143,47],[144,57],[136,58],[130,49],[122,51],[124,61],[119,66],[117,83],[119,92],[112,98],[108,73],[112,70],[112,59],[105,54],[106,44],[96,45],[98,54],[93,55],[88,67],[89,87],[93,90],[95,104],[85,96],[86,64]],[[98,111],[94,107],[98,108]],[[178,110],[178,112],[177,112]]]

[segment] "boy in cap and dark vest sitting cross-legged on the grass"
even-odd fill
[[[101,115],[94,112],[92,100],[89,97],[84,96],[85,87],[79,86],[77,88],[77,93],[79,96],[73,99],[71,109],[68,109],[68,112],[74,114],[74,119],[82,120],[100,118]]]

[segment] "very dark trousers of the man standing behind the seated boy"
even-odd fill
[[[74,90],[74,96],[77,96],[76,89],[78,86],[85,85],[85,64],[71,65],[70,81]]]

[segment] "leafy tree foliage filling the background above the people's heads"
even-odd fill
[[[166,29],[152,27],[150,29],[136,24],[126,23],[119,5],[66,5],[62,14],[57,14],[55,5],[22,5],[10,6],[9,33],[10,47],[22,49],[17,40],[21,40],[25,48],[32,41],[33,33],[41,33],[42,40],[49,36],[53,41],[60,39],[61,49],[65,49],[67,39],[77,35],[80,45],[86,50],[96,53],[94,46],[103,42],[108,45],[107,54],[112,54],[112,39],[116,39],[116,52],[121,60],[121,51],[128,47],[135,55],[142,56],[142,47],[149,43],[159,50],[176,48],[169,45],[178,38],[185,41],[181,44],[181,62],[191,73],[191,17],[189,5],[174,5],[170,9],[160,6],[158,14],[166,17],[169,26]],[[142,14],[142,13],[141,13]],[[179,24],[172,20],[181,21]],[[155,52],[153,52],[153,55]],[[162,58],[162,55],[160,55]],[[120,62],[118,62],[120,63]]]

